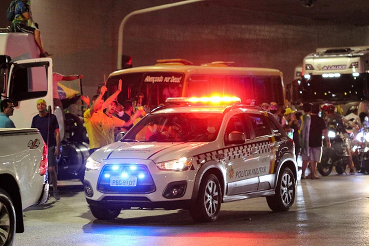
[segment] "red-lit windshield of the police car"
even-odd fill
[[[123,137],[123,142],[211,142],[223,114],[161,113],[146,116]]]

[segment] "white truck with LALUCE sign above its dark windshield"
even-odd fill
[[[301,101],[334,103],[342,109],[367,104],[368,60],[369,46],[318,48],[303,62],[303,78],[298,80]]]

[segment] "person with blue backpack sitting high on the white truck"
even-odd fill
[[[49,57],[51,55],[45,51],[42,45],[40,30],[28,26],[28,21],[32,17],[30,12],[30,5],[27,4],[27,1],[28,0],[21,0],[16,3],[14,9],[15,17],[11,22],[12,30],[16,32],[32,33],[34,35],[34,40],[36,41],[37,46],[40,49],[40,57]]]

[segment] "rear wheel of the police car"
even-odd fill
[[[279,174],[276,194],[267,197],[267,203],[271,210],[285,212],[290,210],[295,201],[296,181],[291,169],[285,167]]]

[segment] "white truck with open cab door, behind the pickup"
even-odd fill
[[[83,135],[81,119],[75,114],[54,107],[52,59],[39,58],[40,52],[33,34],[7,32],[5,29],[2,31],[0,93],[1,99],[10,98],[14,102],[12,121],[16,127],[30,127],[33,116],[38,114],[36,102],[38,99],[44,99],[47,105],[51,106],[60,126],[62,144],[61,157],[58,159],[58,178],[83,179],[86,160],[89,157],[89,144]],[[82,90],[77,99],[81,94]],[[65,101],[63,106],[74,101]]]

